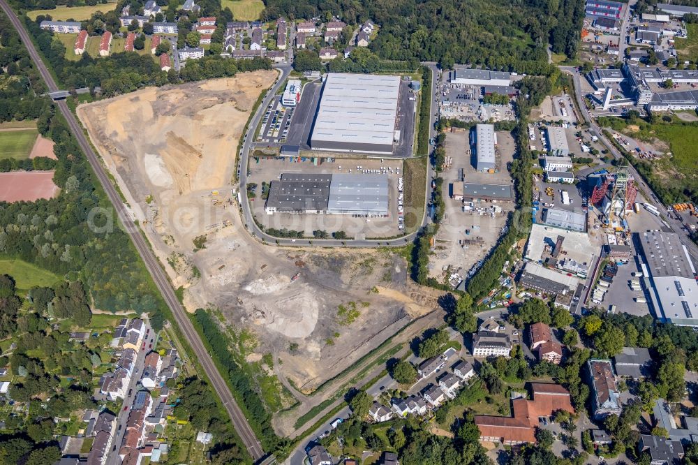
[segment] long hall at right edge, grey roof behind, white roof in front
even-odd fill
[[[698,325],[698,282],[688,250],[676,232],[640,232],[643,271],[658,318],[676,325]]]

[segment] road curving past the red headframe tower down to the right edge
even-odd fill
[[[574,80],[574,91],[577,96],[577,105],[579,106],[579,109],[581,110],[582,114],[584,115],[584,119],[588,122],[591,132],[595,133],[599,140],[602,142],[602,144],[609,150],[609,152],[614,156],[616,159],[625,159],[623,154],[621,152],[618,152],[618,149],[616,149],[616,146],[611,144],[611,142],[608,140],[608,138],[604,135],[602,132],[601,128],[596,124],[596,121],[591,117],[589,114],[589,111],[586,108],[586,105],[584,105],[584,96],[581,93],[581,78],[579,77],[579,72],[577,71],[577,68],[574,68],[572,66],[560,66],[560,70],[565,71],[566,73],[570,73],[572,75],[572,79]],[[698,246],[690,239],[690,236],[688,235],[688,232],[683,228],[683,224],[681,221],[678,221],[674,219],[673,216],[671,216],[667,212],[667,207],[660,202],[659,198],[655,193],[650,189],[650,186],[645,182],[645,180],[641,177],[639,172],[635,170],[635,168],[632,165],[628,165],[628,172],[632,177],[635,179],[635,185],[637,186],[639,191],[644,191],[644,193],[648,194],[651,196],[650,199],[647,199],[648,202],[652,202],[655,207],[659,210],[660,214],[666,219],[667,223],[669,223],[669,227],[671,230],[676,232],[678,236],[681,238],[681,242],[688,248],[688,251],[694,258],[698,258]]]

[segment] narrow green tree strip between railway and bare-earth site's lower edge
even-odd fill
[[[258,386],[248,371],[235,361],[228,349],[228,338],[221,332],[216,322],[203,310],[198,309],[195,314],[195,322],[211,347],[211,355],[218,361],[218,365],[227,374],[233,392],[238,403],[247,412],[247,419],[257,431],[258,438],[262,441],[265,450],[283,448],[285,441],[276,436],[272,428],[272,415],[265,406],[258,392]]]

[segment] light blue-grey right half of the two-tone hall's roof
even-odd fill
[[[387,175],[332,175],[327,213],[387,214]]]

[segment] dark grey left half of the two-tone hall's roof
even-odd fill
[[[332,175],[281,175],[272,181],[267,207],[279,211],[323,212],[329,202],[329,184]]]

